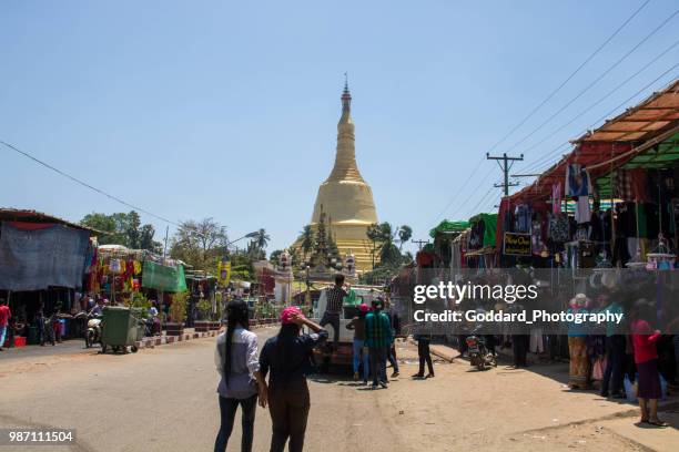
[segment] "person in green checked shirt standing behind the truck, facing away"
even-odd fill
[[[365,342],[371,357],[371,373],[373,374],[373,389],[379,384],[387,387],[386,360],[392,346],[392,325],[383,311],[384,300],[373,300],[373,311],[365,316]]]

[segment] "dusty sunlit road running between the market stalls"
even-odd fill
[[[264,340],[274,330],[259,330]],[[209,451],[217,430],[214,338],[101,356],[95,351],[0,357],[0,427],[75,428],[77,451]],[[453,451],[676,450],[675,428],[634,427],[634,409],[563,387],[559,366],[475,372],[437,362],[437,377],[411,380],[415,351],[389,389],[313,379],[307,450]],[[572,424],[572,422],[579,422]],[[230,450],[237,450],[240,424]],[[271,421],[257,409],[255,451],[268,450]],[[0,448],[0,452],[10,448]],[[29,451],[28,448],[17,448]],[[47,448],[37,448],[45,451]]]

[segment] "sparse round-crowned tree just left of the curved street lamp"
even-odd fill
[[[216,260],[226,253],[226,226],[213,218],[180,224],[172,237],[170,255],[200,270],[212,270]]]

